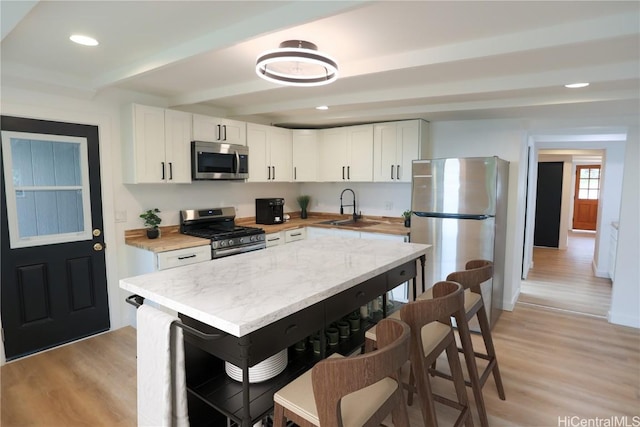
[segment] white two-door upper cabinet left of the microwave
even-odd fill
[[[190,113],[132,104],[123,117],[123,182],[191,182]]]

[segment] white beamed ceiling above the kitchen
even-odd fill
[[[6,1],[3,86],[111,88],[188,111],[321,127],[424,118],[640,114],[638,1]],[[97,38],[88,48],[72,33]],[[258,54],[301,39],[337,82],[259,79]],[[563,84],[588,81],[585,89]],[[317,111],[318,105],[328,111]]]

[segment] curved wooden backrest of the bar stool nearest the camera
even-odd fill
[[[397,393],[375,414],[375,421],[371,418],[372,424],[379,425],[391,413],[394,403],[406,405],[399,372],[409,360],[409,326],[396,319],[382,319],[376,329],[377,350],[358,356],[324,359],[313,367],[313,393],[321,426],[342,426],[341,399],[387,377],[396,381]]]

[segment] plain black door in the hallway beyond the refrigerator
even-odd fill
[[[538,163],[535,246],[557,248],[560,241],[562,207],[562,162]]]

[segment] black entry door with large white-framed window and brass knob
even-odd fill
[[[7,360],[109,329],[98,128],[1,117]]]

